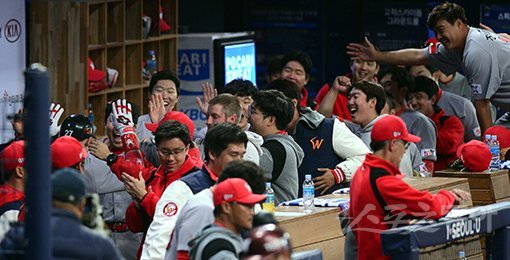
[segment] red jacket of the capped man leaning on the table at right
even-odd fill
[[[389,162],[368,154],[352,178],[349,217],[356,235],[358,259],[390,259],[384,257],[380,233],[389,228],[386,212],[392,216],[439,219],[452,208],[455,197],[446,190],[432,195],[402,181],[399,170]],[[387,205],[385,211],[372,187]]]

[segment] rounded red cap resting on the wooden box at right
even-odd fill
[[[457,148],[457,157],[469,171],[483,172],[489,168],[492,155],[486,144],[471,140]]]

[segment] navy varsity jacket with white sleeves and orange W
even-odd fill
[[[305,153],[299,167],[300,184],[305,174],[312,174],[312,178],[321,176],[323,172],[317,168],[334,169],[332,172],[337,184],[349,181],[365,159],[365,154],[370,153],[368,147],[345,123],[336,118],[326,119],[310,108],[301,108],[299,120],[291,135]],[[328,192],[335,188],[339,188],[339,185],[333,186]]]

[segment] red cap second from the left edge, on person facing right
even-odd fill
[[[87,156],[87,150],[74,137],[62,136],[51,144],[51,163],[53,168],[60,169],[74,166],[87,158]]]

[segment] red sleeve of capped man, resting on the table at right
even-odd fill
[[[455,196],[446,190],[437,194],[419,191],[395,176],[381,177],[377,188],[388,209],[395,215],[411,215],[417,218],[439,219],[446,215],[455,203]]]

